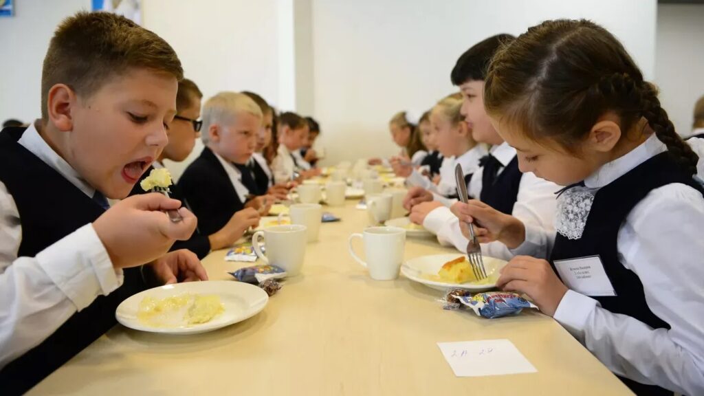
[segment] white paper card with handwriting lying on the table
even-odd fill
[[[438,347],[458,377],[537,372],[509,340],[438,342]]]

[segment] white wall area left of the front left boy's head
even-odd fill
[[[0,122],[41,116],[42,61],[63,18],[89,10],[90,0],[14,1],[15,16],[0,18]]]

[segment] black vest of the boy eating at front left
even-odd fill
[[[35,256],[49,245],[92,223],[104,211],[61,174],[18,144],[24,128],[0,132],[0,180],[20,214],[22,242],[18,256]],[[51,200],[46,199],[51,195]],[[0,371],[3,395],[26,392],[59,366],[115,326],[115,309],[144,289],[139,268],[125,270],[125,283],[108,296],[71,316],[41,344]]]

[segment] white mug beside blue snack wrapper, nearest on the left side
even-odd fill
[[[259,238],[262,236],[266,245],[266,255],[259,247]],[[303,266],[306,239],[305,225],[275,225],[254,233],[252,246],[257,256],[266,264],[278,266],[287,271],[289,276],[296,276],[301,272]]]

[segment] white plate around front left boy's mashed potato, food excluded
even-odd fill
[[[139,302],[144,297],[165,298],[182,293],[218,295],[220,302],[225,306],[225,311],[207,323],[187,325],[176,328],[152,327],[142,323],[137,319]],[[175,285],[164,285],[144,290],[132,297],[125,299],[115,311],[115,318],[123,326],[134,330],[149,331],[152,333],[165,334],[195,334],[205,333],[233,323],[244,321],[247,318],[258,314],[269,301],[269,296],[264,290],[249,283],[241,283],[234,280],[204,280],[201,282],[177,283]]]

